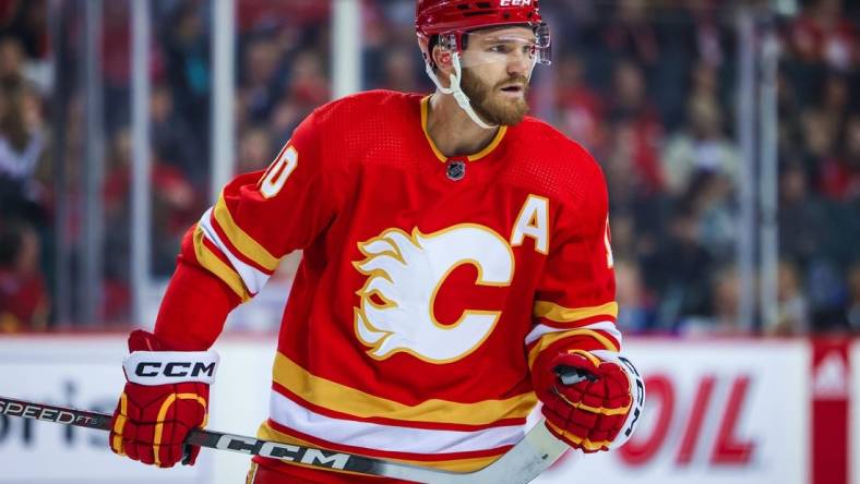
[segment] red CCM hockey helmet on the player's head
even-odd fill
[[[540,16],[539,0],[417,0],[415,28],[425,50],[433,36],[455,34],[456,43],[468,31],[527,24],[535,28],[539,61],[549,63],[549,28]]]

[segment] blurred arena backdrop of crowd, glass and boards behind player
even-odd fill
[[[860,484],[860,8],[544,0],[535,114],[609,184],[647,412],[541,483]],[[179,240],[313,108],[430,92],[411,0],[0,0],[0,395],[111,411]],[[357,119],[356,122],[361,122]],[[300,254],[229,319],[210,426],[264,418]],[[0,483],[238,483],[0,416]]]

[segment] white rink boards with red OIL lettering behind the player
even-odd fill
[[[111,411],[123,336],[0,337],[0,395]],[[860,341],[625,341],[646,412],[624,447],[563,459],[544,484],[860,484]],[[253,435],[265,418],[274,338],[223,338],[210,427]],[[851,399],[851,395],[856,398]],[[857,464],[855,464],[857,465]],[[203,451],[194,468],[119,459],[107,435],[0,416],[0,484],[243,482],[248,458]]]

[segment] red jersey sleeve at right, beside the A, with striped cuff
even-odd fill
[[[585,168],[574,199],[558,208],[525,341],[529,367],[541,354],[620,350],[606,181],[590,157]]]

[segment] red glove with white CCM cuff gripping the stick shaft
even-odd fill
[[[114,452],[159,468],[180,459],[194,464],[200,447],[183,443],[189,431],[206,425],[218,365],[214,351],[169,350],[155,335],[132,331],[122,365],[128,383],[110,425]]]

